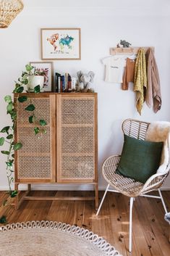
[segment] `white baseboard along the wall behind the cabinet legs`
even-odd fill
[[[50,185],[32,185],[32,190],[59,190],[59,191],[91,191],[94,190],[94,186],[92,185],[54,185],[54,184],[50,184]],[[14,189],[14,187],[12,187],[12,189]],[[27,186],[21,184],[19,186],[20,190],[27,190]],[[104,191],[106,189],[106,186],[99,186],[98,190],[99,191]],[[9,187],[8,186],[0,186],[0,191],[8,191]],[[170,191],[170,186],[167,187],[162,187],[161,188],[162,191]]]

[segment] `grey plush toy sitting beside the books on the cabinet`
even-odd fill
[[[90,88],[90,84],[93,83],[93,78],[95,73],[93,71],[89,71],[88,74],[83,73],[81,70],[77,72],[77,91],[88,91]]]

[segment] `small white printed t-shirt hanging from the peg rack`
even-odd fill
[[[109,83],[122,83],[124,58],[107,57],[102,62],[103,65],[106,65],[105,81]]]

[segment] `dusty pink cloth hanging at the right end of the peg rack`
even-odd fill
[[[153,106],[153,111],[156,113],[161,109],[161,88],[158,74],[158,67],[156,65],[156,59],[153,54],[153,50],[148,49],[147,53],[147,78],[148,85],[145,94],[145,102],[148,107]]]

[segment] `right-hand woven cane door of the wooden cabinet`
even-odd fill
[[[97,94],[56,96],[57,182],[97,181]]]

